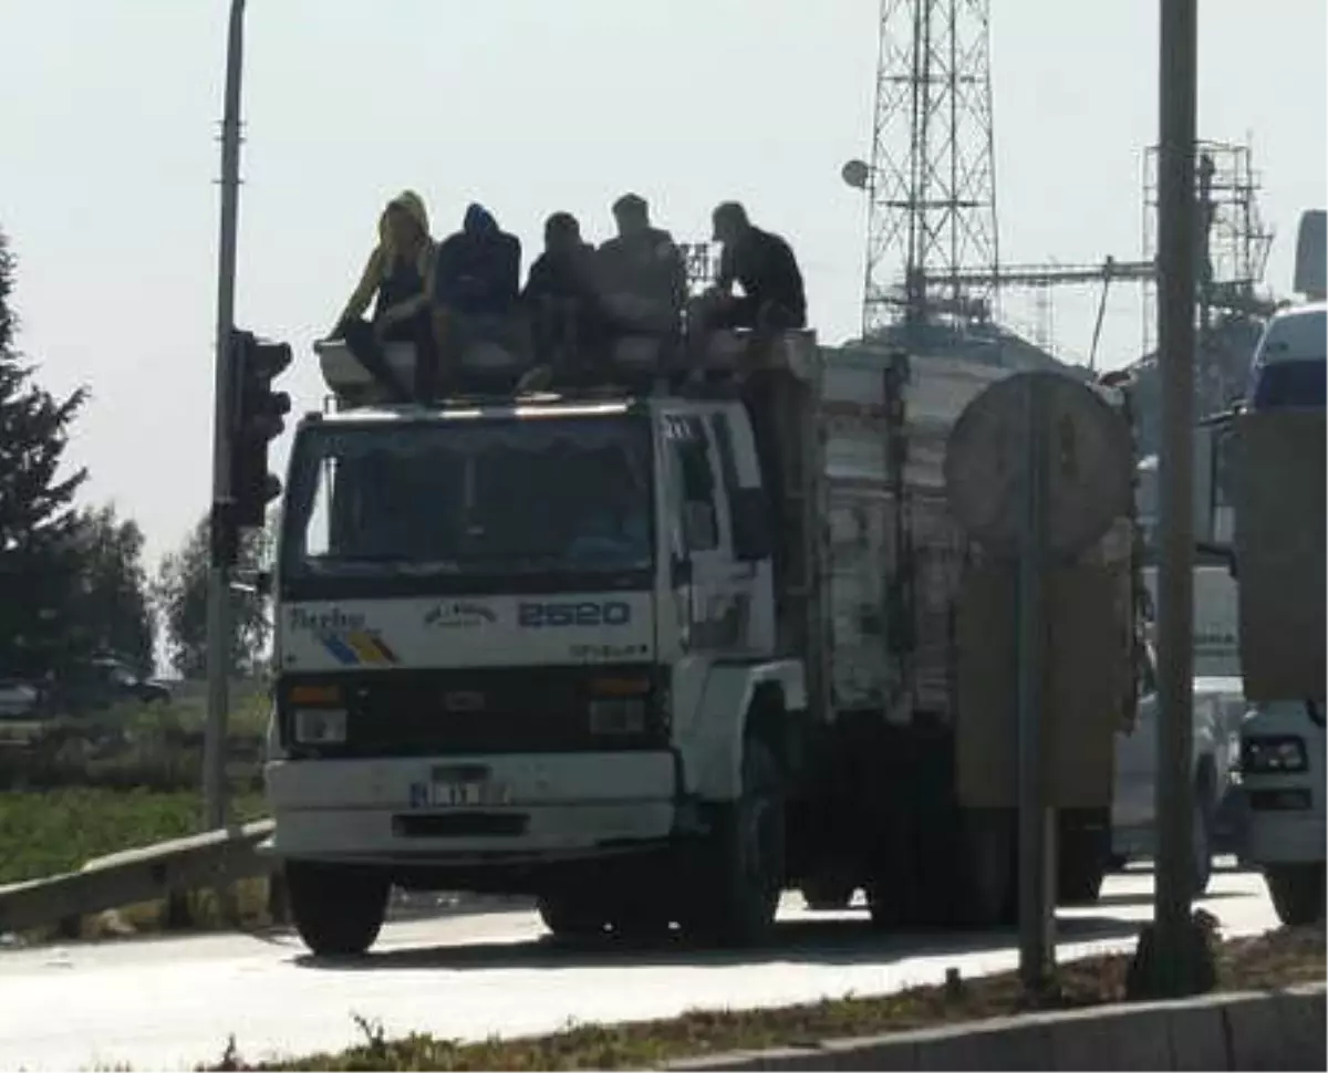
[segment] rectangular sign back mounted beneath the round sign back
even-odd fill
[[[1118,631],[1122,567],[1060,566],[1046,579],[1042,770],[1053,807],[1112,801],[1114,737],[1130,684]],[[965,578],[957,610],[960,802],[1017,801],[1017,566],[987,563]],[[1102,659],[1117,652],[1120,659]]]

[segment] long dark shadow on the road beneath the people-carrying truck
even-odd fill
[[[1064,943],[1090,943],[1129,939],[1138,934],[1139,923],[1109,916],[1062,918],[1057,922]],[[888,964],[910,957],[969,956],[1009,949],[1017,942],[1012,930],[910,932],[891,935],[875,931],[862,920],[795,920],[781,923],[774,940],[758,949],[716,951],[697,947],[671,935],[659,943],[614,940],[570,943],[542,938],[517,943],[473,943],[413,949],[384,951],[359,959],[323,959],[312,955],[293,957],[309,969],[348,969],[360,972],[409,969],[568,969],[612,968],[616,965],[687,967],[687,965],[861,965]]]

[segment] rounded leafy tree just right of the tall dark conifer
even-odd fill
[[[74,544],[80,566],[80,621],[98,648],[125,659],[142,675],[154,668],[153,615],[143,531],[113,506],[80,513]]]

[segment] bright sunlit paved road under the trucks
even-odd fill
[[[1061,957],[1127,949],[1151,914],[1151,875],[1108,880],[1102,903],[1061,914]],[[1276,927],[1263,880],[1226,871],[1206,908],[1227,935]],[[555,1031],[570,1020],[665,1017],[693,1008],[785,1005],[1012,968],[1013,936],[871,935],[863,914],[784,914],[760,955],[567,952],[533,914],[392,924],[361,967],[311,964],[288,935],[201,936],[0,953],[0,1069],[133,1062],[182,1069],[218,1058],[335,1050],[353,1017],[389,1034],[475,1038]]]

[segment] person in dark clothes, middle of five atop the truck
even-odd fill
[[[544,220],[544,252],[530,266],[522,303],[534,321],[535,360],[518,385],[534,390],[555,376],[582,372],[598,356],[604,315],[595,248],[571,212]]]

